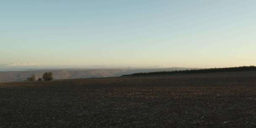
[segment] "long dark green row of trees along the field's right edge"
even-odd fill
[[[256,71],[255,66],[243,67],[228,67],[228,68],[210,68],[210,69],[191,69],[179,71],[163,71],[163,72],[147,72],[134,73],[123,76],[140,76],[140,75],[177,75],[177,74],[197,74],[197,73],[214,73],[214,72],[241,72],[241,71]]]

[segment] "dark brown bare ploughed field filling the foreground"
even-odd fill
[[[0,128],[256,128],[256,72],[0,83]]]

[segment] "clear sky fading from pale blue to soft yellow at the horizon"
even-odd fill
[[[3,0],[0,64],[256,65],[256,0]]]

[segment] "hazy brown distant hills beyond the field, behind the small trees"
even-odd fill
[[[16,64],[12,64],[16,65]],[[26,65],[26,64],[25,64]],[[20,68],[20,67],[19,67]],[[24,81],[35,75],[36,79],[43,76],[44,72],[53,72],[53,79],[76,79],[91,77],[117,77],[139,72],[174,71],[195,68],[132,68],[126,69],[26,69],[26,71],[0,72],[0,82]]]

